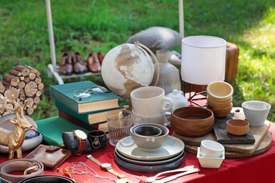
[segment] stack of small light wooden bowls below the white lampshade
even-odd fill
[[[233,87],[227,82],[216,81],[207,86],[207,108],[215,118],[224,118],[233,108]]]

